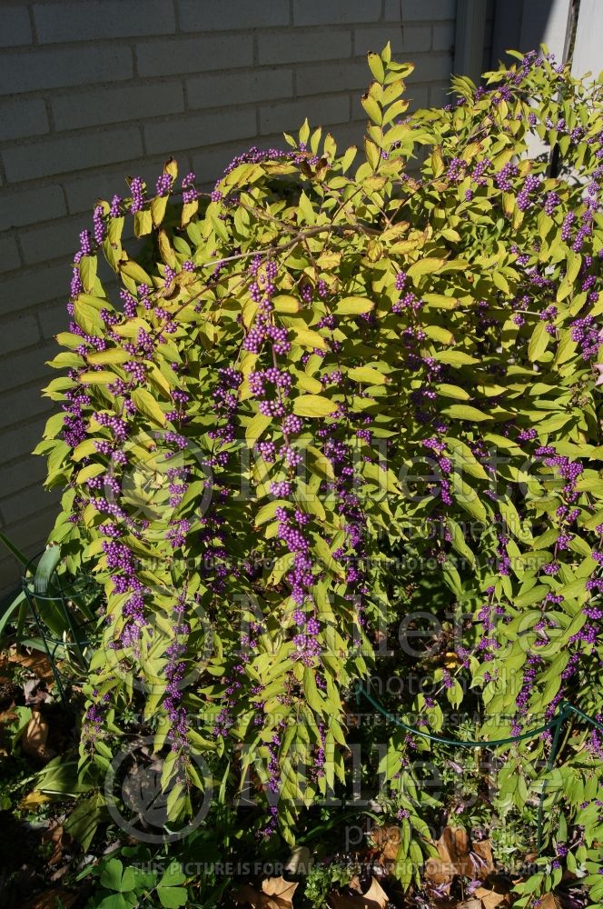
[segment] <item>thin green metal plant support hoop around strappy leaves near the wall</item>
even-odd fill
[[[93,644],[90,631],[94,627],[94,619],[81,622],[75,617],[73,605],[75,597],[73,594],[77,593],[76,585],[68,584],[64,586],[61,583],[61,575],[55,570],[50,576],[52,587],[48,586],[46,589],[41,589],[36,567],[39,565],[43,555],[35,555],[25,565],[21,583],[27,604],[34,618],[36,630],[44,644],[44,652],[48,657],[59,697],[64,707],[69,709],[69,696],[66,689],[73,680],[73,674],[65,673],[62,665],[68,662],[69,665],[74,666],[74,663],[69,659],[71,654],[74,654],[78,669],[83,674],[85,673],[89,664],[89,655],[86,650]],[[58,614],[62,624],[64,624],[65,631],[68,630],[68,638],[66,634],[63,637],[56,636],[50,626],[44,621],[44,607],[49,610],[51,604],[54,616],[56,617]],[[64,651],[63,658],[61,656],[57,657],[59,650]]]

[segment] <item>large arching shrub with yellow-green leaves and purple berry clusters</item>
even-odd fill
[[[392,556],[435,560],[470,615],[414,704],[424,731],[469,696],[485,740],[578,694],[600,720],[601,87],[518,58],[407,116],[412,67],[388,47],[360,165],[306,123],[210,195],[172,159],[154,195],[134,177],[80,237],[37,451],[64,488],[51,541],[104,586],[83,760],[106,768],[142,704],[180,781],[174,822],[203,788],[195,754],[251,775],[259,833],[290,841],[345,781],[345,700],[396,614]],[[584,864],[602,740],[575,736],[561,795]],[[513,781],[541,784],[549,738],[499,752],[503,804],[533,798]],[[416,747],[393,734],[381,767],[400,860],[431,848]]]

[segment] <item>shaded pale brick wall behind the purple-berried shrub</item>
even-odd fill
[[[389,40],[414,106],[445,103],[456,0],[5,0],[0,13],[0,527],[27,554],[56,510],[29,453],[64,330],[69,262],[98,197],[172,153],[210,183],[308,116],[361,140],[364,57]],[[18,566],[0,550],[0,593]]]

